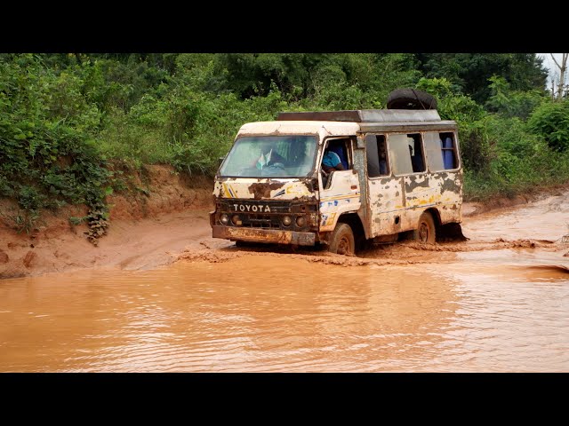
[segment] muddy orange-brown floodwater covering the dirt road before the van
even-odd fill
[[[0,371],[568,372],[567,222],[565,192],[431,248],[202,237],[151,270],[0,280]]]

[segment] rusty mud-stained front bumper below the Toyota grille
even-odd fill
[[[234,241],[297,244],[299,246],[314,246],[316,243],[315,233],[297,233],[295,231],[281,231],[275,229],[236,228],[222,225],[212,225],[212,237]]]

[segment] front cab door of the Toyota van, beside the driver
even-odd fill
[[[333,149],[343,148],[341,159],[348,170],[334,170],[328,177],[322,172],[322,157],[333,143]],[[357,170],[353,164],[353,140],[351,138],[327,138],[319,158],[318,185],[320,193],[320,232],[333,231],[341,214],[354,212],[361,206],[361,191]],[[339,155],[341,155],[339,154]]]

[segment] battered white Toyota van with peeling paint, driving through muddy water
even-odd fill
[[[344,170],[322,170],[326,150]],[[212,236],[352,254],[357,241],[413,232],[434,243],[460,224],[462,168],[456,122],[437,110],[280,113],[249,122],[220,165]]]

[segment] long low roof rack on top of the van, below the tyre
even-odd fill
[[[351,109],[278,113],[276,121],[310,122],[440,122],[436,109]]]

